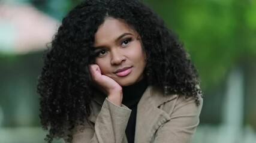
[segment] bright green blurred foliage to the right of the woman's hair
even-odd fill
[[[197,67],[204,90],[256,57],[256,1],[145,0],[164,18]]]

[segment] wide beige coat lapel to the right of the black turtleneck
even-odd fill
[[[177,95],[165,95],[161,89],[149,86],[138,102],[135,126],[135,142],[150,142],[156,130],[170,120],[170,116],[160,108],[160,105],[171,101]]]

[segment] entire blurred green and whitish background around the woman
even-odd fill
[[[37,77],[79,0],[0,1],[0,142],[44,142]],[[256,1],[144,0],[183,42],[204,92],[193,142],[256,141]],[[56,140],[55,142],[62,142]]]

